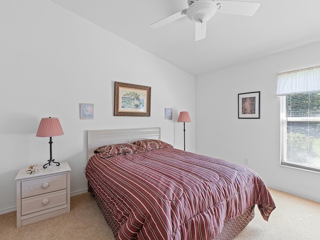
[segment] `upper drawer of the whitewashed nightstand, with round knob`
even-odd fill
[[[66,188],[66,173],[21,182],[21,198]]]

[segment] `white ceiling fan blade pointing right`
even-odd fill
[[[252,16],[259,8],[259,2],[217,0],[217,12]]]

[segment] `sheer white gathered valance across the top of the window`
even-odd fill
[[[320,91],[320,66],[277,74],[276,95]]]

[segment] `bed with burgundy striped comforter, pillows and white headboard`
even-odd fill
[[[265,220],[275,208],[256,172],[176,149],[159,127],[88,130],[85,174],[119,240],[232,239],[255,205]]]

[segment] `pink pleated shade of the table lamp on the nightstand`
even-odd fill
[[[41,118],[38,131],[35,136],[60,136],[63,130],[57,117]]]

